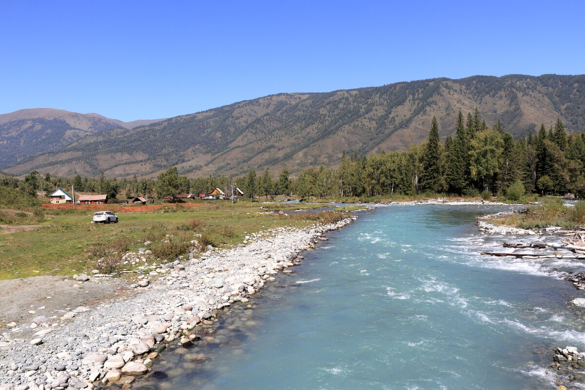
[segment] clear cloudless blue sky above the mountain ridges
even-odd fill
[[[0,113],[156,119],[278,92],[583,74],[584,1],[0,0]]]

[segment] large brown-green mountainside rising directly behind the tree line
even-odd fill
[[[277,94],[177,116],[132,130],[92,134],[5,171],[107,177],[152,176],[171,165],[191,177],[276,174],[336,166],[343,150],[360,156],[404,150],[428,136],[432,116],[441,136],[455,132],[459,110],[523,136],[560,118],[568,131],[585,129],[585,75],[436,78],[313,94]]]

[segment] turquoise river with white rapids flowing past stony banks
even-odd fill
[[[561,272],[574,260],[481,256],[494,206],[390,205],[326,234],[292,274],[165,351],[135,388],[543,389],[553,348],[585,347]],[[526,240],[526,237],[517,237]]]

